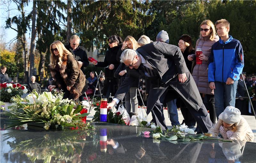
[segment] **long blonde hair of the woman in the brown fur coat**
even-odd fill
[[[58,56],[55,56],[54,53],[52,52],[52,45],[55,45],[56,48],[58,49]],[[51,45],[50,45],[50,52],[51,52],[51,57],[50,57],[50,67],[51,69],[54,69],[56,64],[58,63],[59,66],[61,66],[62,64],[62,57],[65,57],[69,54],[71,54],[63,45],[62,42],[60,41],[54,41]]]

